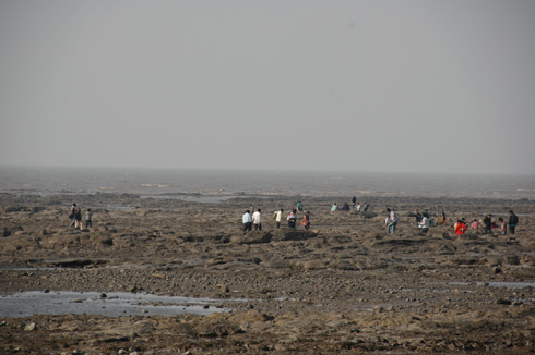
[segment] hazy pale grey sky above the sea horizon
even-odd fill
[[[0,164],[535,173],[535,1],[0,0]]]

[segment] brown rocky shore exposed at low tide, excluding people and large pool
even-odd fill
[[[522,286],[535,282],[535,201],[367,197],[369,213],[331,213],[331,204],[344,200],[298,199],[311,211],[309,231],[274,227],[272,212],[287,212],[295,197],[198,204],[0,195],[2,295],[141,292],[213,297],[231,309],[0,318],[0,353],[535,352],[535,292]],[[93,228],[69,228],[72,201],[93,208]],[[241,215],[251,204],[263,211],[263,230],[243,233]],[[395,235],[383,227],[387,207],[401,218]],[[444,209],[448,225],[421,234],[411,212],[426,208]],[[507,217],[511,208],[521,218],[515,235],[453,232],[459,218]]]

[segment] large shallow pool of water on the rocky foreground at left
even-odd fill
[[[127,292],[29,291],[0,297],[0,317],[33,315],[176,316],[230,311],[213,298],[156,296]]]

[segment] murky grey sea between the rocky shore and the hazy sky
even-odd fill
[[[145,197],[428,196],[535,199],[535,175],[0,167],[0,193]]]

